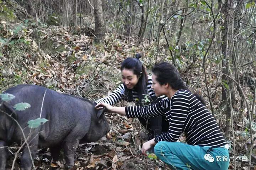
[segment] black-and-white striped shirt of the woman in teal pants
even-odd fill
[[[168,109],[166,113],[165,109]],[[125,108],[130,117],[157,117],[164,115],[169,130],[155,138],[155,142],[175,142],[185,132],[186,142],[194,146],[220,147],[226,144],[222,132],[206,106],[190,91],[178,90],[171,99],[161,100],[158,104]]]

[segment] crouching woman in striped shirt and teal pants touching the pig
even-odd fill
[[[229,144],[202,98],[190,92],[172,64],[162,62],[155,65],[152,72],[151,88],[157,97],[165,95],[167,99],[150,106],[117,108],[100,103],[95,107],[105,106],[109,113],[128,118],[165,115],[169,130],[144,143],[143,154],[154,147],[156,156],[172,169],[227,170]],[[177,142],[182,134],[186,143]]]

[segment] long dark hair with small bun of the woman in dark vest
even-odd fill
[[[125,59],[121,64],[121,70],[128,69],[133,70],[133,74],[137,75],[139,81],[135,86],[138,90],[139,104],[141,105],[142,100],[144,99],[144,95],[146,94],[147,84],[148,84],[148,75],[146,73],[146,69],[143,66],[142,62],[139,60],[141,57],[140,54],[136,54],[135,58],[129,57]],[[124,94],[127,96],[128,102],[133,101],[132,90],[128,89],[124,84]]]

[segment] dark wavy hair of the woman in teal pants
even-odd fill
[[[175,90],[184,89],[190,91],[174,65],[168,62],[161,62],[152,68],[152,72],[156,75],[156,81],[158,81],[160,85],[168,83]],[[204,99],[199,94],[194,93],[194,95],[202,104],[206,105]]]

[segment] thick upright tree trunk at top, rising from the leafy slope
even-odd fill
[[[105,39],[105,25],[103,22],[102,1],[94,0],[95,42]]]

